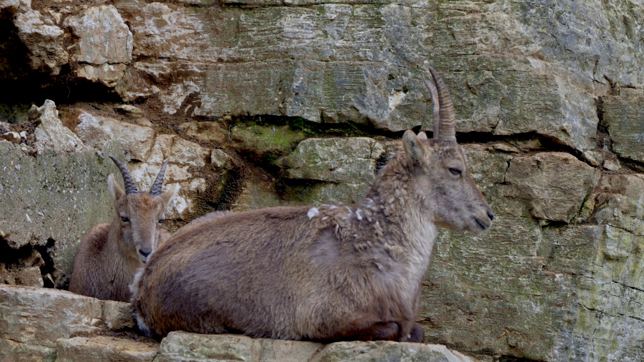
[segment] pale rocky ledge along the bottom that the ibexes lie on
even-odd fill
[[[2,361],[477,361],[442,345],[337,342],[171,332],[137,334],[128,303],[57,289],[0,285]]]

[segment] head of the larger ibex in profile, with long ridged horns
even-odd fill
[[[465,151],[456,142],[456,117],[450,91],[440,76],[430,68],[436,83],[426,81],[431,93],[434,116],[433,139],[424,132],[403,135],[407,164],[412,168],[421,195],[421,207],[433,214],[433,222],[453,231],[479,235],[492,225],[494,214],[472,176],[469,175]]]

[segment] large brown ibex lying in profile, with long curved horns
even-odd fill
[[[178,230],[135,276],[138,326],[153,336],[423,341],[415,320],[437,227],[478,235],[494,217],[456,142],[450,93],[430,71],[433,139],[406,131],[364,202],[258,209]]]

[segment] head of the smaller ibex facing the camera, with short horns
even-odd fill
[[[140,192],[128,168],[116,158],[111,156],[109,158],[117,164],[125,184],[125,191],[123,191],[114,180],[114,175],[108,176],[109,195],[114,202],[117,222],[120,221],[121,225],[123,242],[121,247],[135,251],[130,254],[136,255],[140,262],[145,263],[156,249],[162,224],[166,220],[166,208],[179,190],[179,186],[175,185],[169,191],[161,193],[166,161],[161,166],[150,192]]]

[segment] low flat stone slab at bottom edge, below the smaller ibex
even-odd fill
[[[156,357],[158,344],[106,336],[75,337],[58,339],[56,350],[57,362],[151,362]]]

